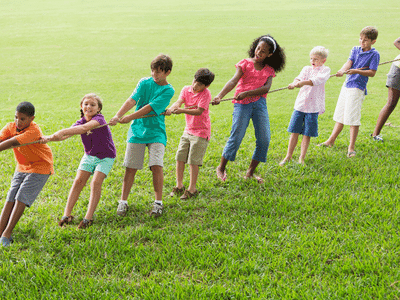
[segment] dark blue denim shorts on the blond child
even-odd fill
[[[318,136],[318,113],[303,113],[294,110],[290,118],[288,131],[305,136]]]

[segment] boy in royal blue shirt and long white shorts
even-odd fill
[[[356,155],[355,143],[358,129],[361,125],[361,105],[367,94],[367,82],[369,77],[374,77],[378,70],[380,55],[372,48],[378,38],[378,30],[367,26],[361,30],[360,46],[353,47],[350,57],[343,67],[337,71],[336,76],[347,74],[347,79],[340,91],[336,104],[333,120],[336,121],[331,136],[318,146],[332,147],[344,125],[350,125],[350,144],[347,157]]]

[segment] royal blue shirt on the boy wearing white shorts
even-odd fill
[[[369,51],[363,52],[360,46],[353,47],[350,52],[349,60],[353,62],[352,69],[365,68],[364,70],[378,70],[380,55],[379,52],[372,48]],[[362,91],[365,90],[367,94],[368,76],[360,74],[347,75],[346,87],[358,88]]]

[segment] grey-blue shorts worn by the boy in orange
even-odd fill
[[[18,200],[30,207],[49,177],[49,174],[15,172],[7,194],[7,202]]]

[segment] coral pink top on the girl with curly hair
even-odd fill
[[[263,85],[268,80],[268,77],[275,77],[275,70],[270,66],[266,65],[262,70],[258,71],[254,68],[254,62],[250,58],[243,59],[239,61],[236,65],[236,68],[240,67],[243,71],[242,77],[240,77],[239,82],[236,86],[235,96],[241,92],[246,92],[250,90],[255,90]],[[233,100],[233,103],[240,104],[248,104],[251,102],[255,102],[261,97],[267,97],[267,94],[260,96],[253,96],[244,98],[241,101]]]

